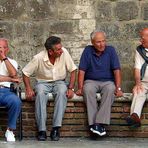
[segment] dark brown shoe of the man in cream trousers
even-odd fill
[[[133,128],[137,128],[141,126],[141,120],[136,113],[132,113],[130,116],[126,118],[126,122],[129,126]]]

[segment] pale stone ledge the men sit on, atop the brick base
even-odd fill
[[[101,96],[99,93],[97,93],[97,100],[99,101],[101,99]],[[22,92],[22,100],[25,100],[25,93]],[[52,93],[49,93],[49,100],[53,101],[53,96]],[[147,97],[148,100],[148,97]],[[68,99],[69,102],[82,102],[83,101],[83,96],[77,96],[74,94],[72,99]],[[115,97],[116,102],[130,102],[132,101],[132,93],[124,93],[122,97]]]

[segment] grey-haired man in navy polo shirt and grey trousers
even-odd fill
[[[91,43],[85,47],[79,64],[77,95],[83,95],[87,106],[89,129],[99,136],[106,134],[110,124],[114,96],[122,96],[121,72],[117,53],[106,45],[106,34],[95,30]],[[101,94],[98,107],[96,93]]]

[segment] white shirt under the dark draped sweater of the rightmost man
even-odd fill
[[[146,50],[146,56],[148,57],[148,49],[145,48]],[[136,50],[135,54],[135,68],[141,70],[142,65],[145,63],[145,60],[142,58],[142,56],[139,54],[139,52]],[[144,77],[142,79],[142,82],[148,82],[148,65],[145,70]]]

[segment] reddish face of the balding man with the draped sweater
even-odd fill
[[[141,32],[141,43],[145,48],[148,48],[148,28],[145,28]]]

